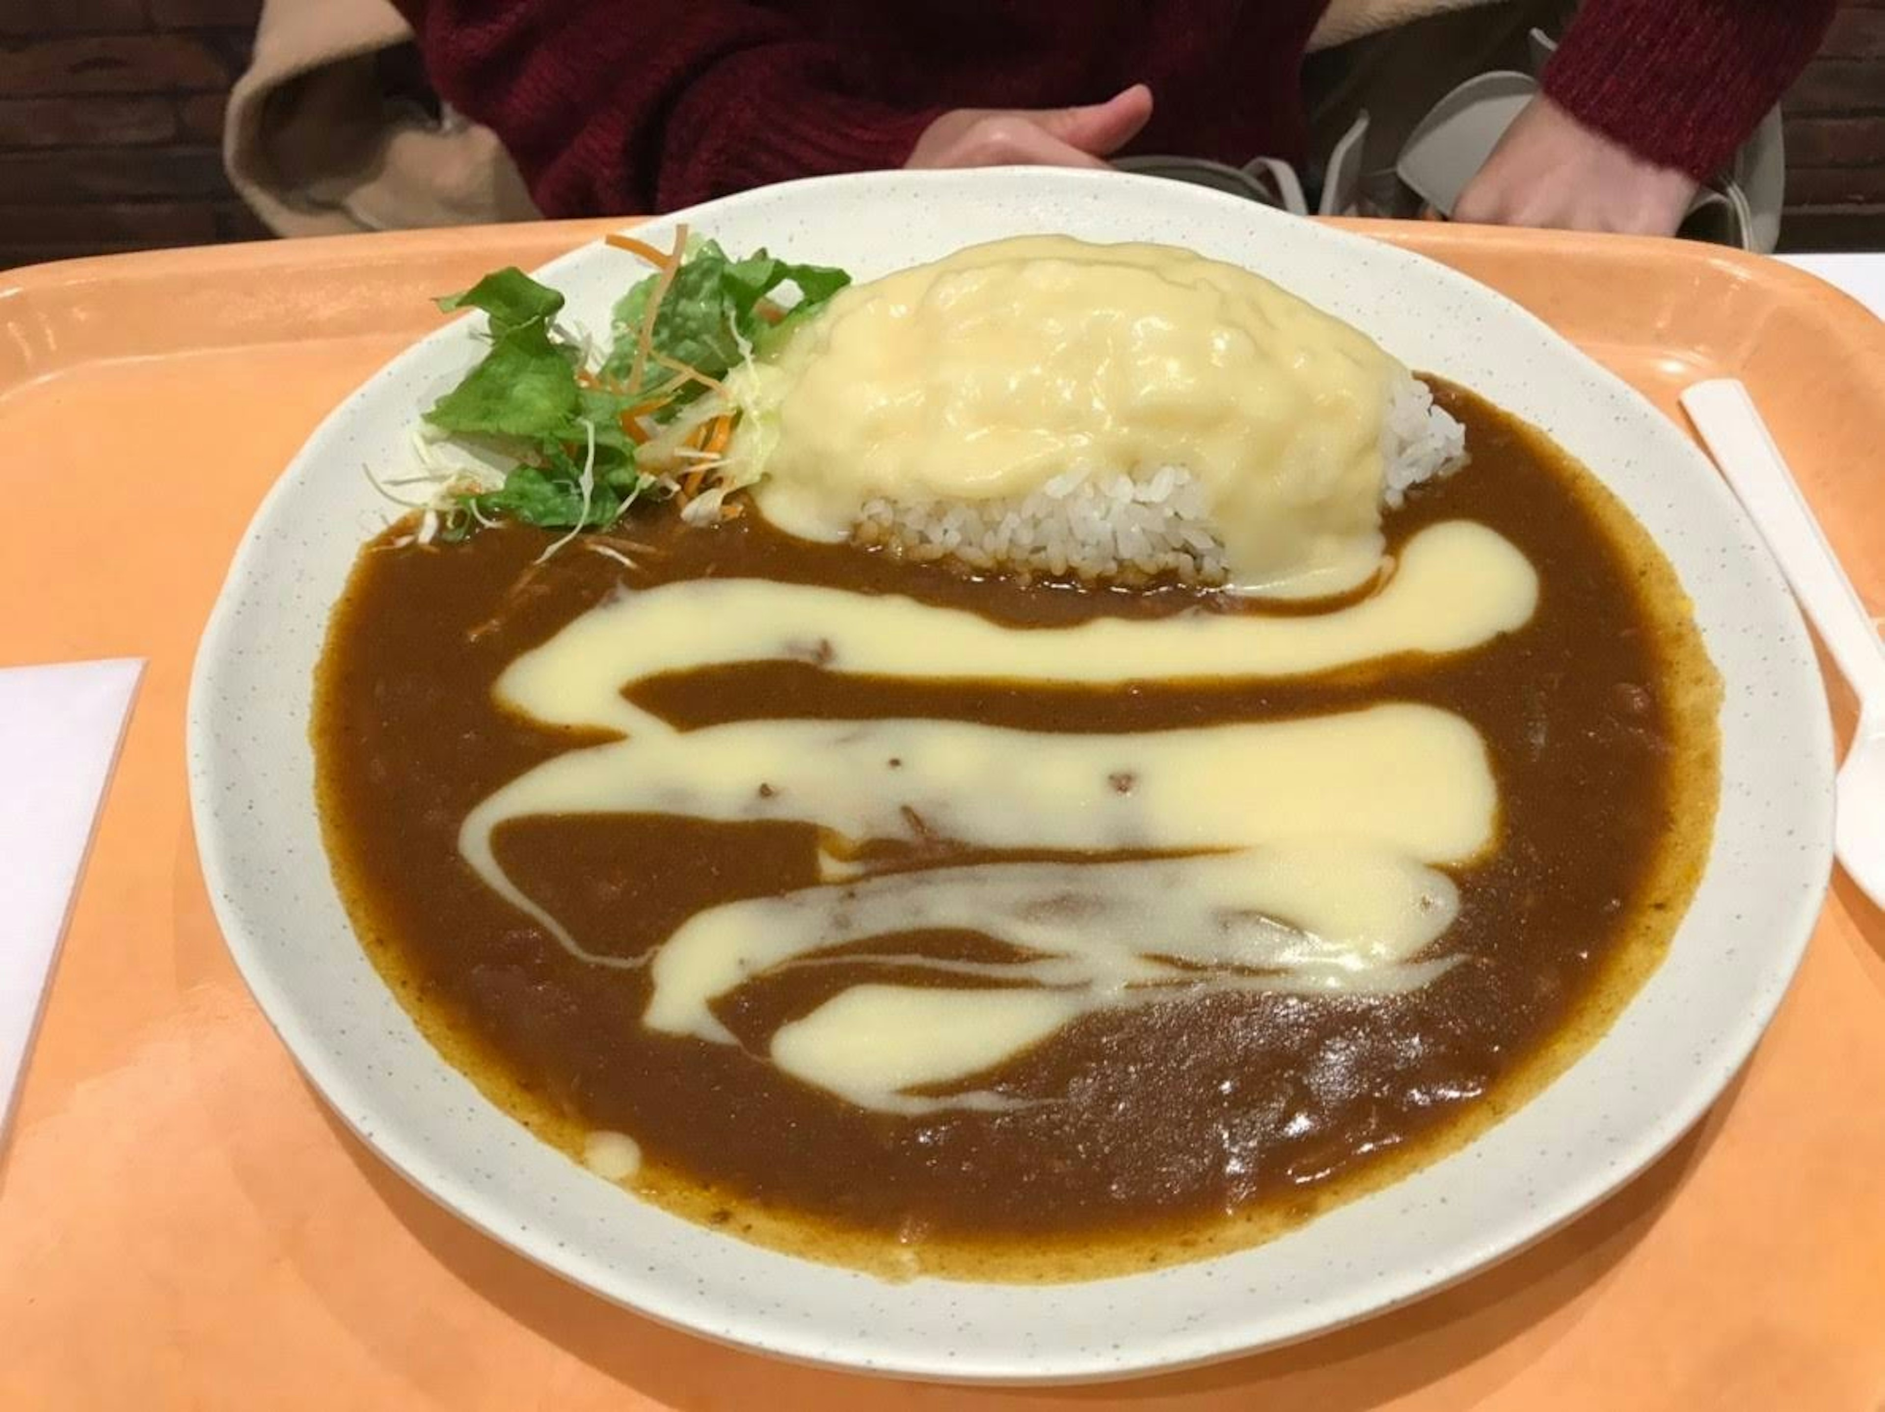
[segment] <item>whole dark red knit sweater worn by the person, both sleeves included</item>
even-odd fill
[[[1131,151],[1301,158],[1327,0],[398,0],[439,94],[498,132],[547,215],[688,205],[901,166],[950,107],[1152,85]],[[1834,0],[1585,0],[1546,74],[1583,123],[1712,175]]]

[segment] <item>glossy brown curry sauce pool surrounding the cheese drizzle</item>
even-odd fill
[[[959,928],[875,935],[716,993],[720,1037],[650,1026],[656,967],[582,954],[648,956],[699,914],[829,886],[833,867],[893,878],[1095,860],[1065,843],[965,845],[922,811],[865,839],[782,807],[760,816],[758,799],[739,818],[526,814],[492,833],[541,916],[520,911],[460,850],[466,820],[615,737],[520,716],[494,688],[622,584],[767,579],[1025,632],[1278,613],[1176,586],[978,581],[750,520],[703,532],[669,518],[616,545],[633,567],[592,552],[533,566],[547,535],[530,530],[434,549],[386,537],[362,554],[320,671],[315,747],[328,846],[368,952],[447,1058],[547,1141],[581,1158],[594,1135],[626,1135],[639,1165],[624,1180],[648,1199],[882,1272],[1074,1278],[1197,1257],[1433,1159],[1582,1052],[1661,958],[1708,846],[1717,692],[1634,522],[1542,437],[1463,392],[1440,400],[1467,424],[1472,471],[1423,488],[1384,530],[1404,554],[1423,532],[1470,522],[1523,554],[1536,605],[1476,647],[1259,679],[1042,686],[844,675],[829,656],[841,645],[807,641],[792,658],[650,675],[620,699],[680,739],[777,720],[1133,737],[1382,705],[1457,718],[1497,788],[1491,843],[1457,863],[1416,860],[1457,892],[1457,914],[1391,961],[1444,971],[1329,992],[1287,988],[1270,967],[1250,988],[1097,1007],[988,1071],[897,1090],[997,1103],[909,1112],[835,1092],[829,1069],[790,1071],[777,1037],[873,986],[1039,988],[1003,973],[1029,954]],[[905,769],[884,762],[892,813]],[[1146,852],[1169,863],[1123,839],[1106,848],[1112,862]]]

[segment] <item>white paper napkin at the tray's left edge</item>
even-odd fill
[[[0,667],[0,1135],[141,673]]]

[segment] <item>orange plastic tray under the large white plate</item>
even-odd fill
[[[1844,878],[1747,1071],[1617,1197],[1401,1312],[1139,1384],[924,1387],[716,1348],[501,1250],[362,1148],[209,916],[190,658],[258,498],[439,320],[426,296],[603,228],[0,275],[0,662],[151,658],[0,1154],[0,1406],[1885,1406],[1885,916]],[[1367,228],[1506,290],[1664,409],[1696,377],[1747,379],[1881,609],[1885,324],[1698,247]]]

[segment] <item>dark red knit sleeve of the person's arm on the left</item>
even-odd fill
[[[790,15],[720,0],[400,0],[439,96],[490,126],[545,215],[669,211],[899,166],[939,109],[848,92]]]

